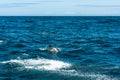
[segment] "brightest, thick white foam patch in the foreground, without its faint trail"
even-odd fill
[[[10,60],[1,63],[17,63],[24,65],[27,69],[35,70],[60,70],[62,68],[70,67],[71,64],[58,61],[58,60],[48,60],[48,59],[25,59],[25,60]]]

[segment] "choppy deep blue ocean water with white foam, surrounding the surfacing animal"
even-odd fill
[[[120,80],[120,17],[1,16],[0,80]]]

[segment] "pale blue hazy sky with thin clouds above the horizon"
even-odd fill
[[[120,16],[120,0],[1,0],[0,16]]]

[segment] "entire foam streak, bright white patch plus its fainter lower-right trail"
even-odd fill
[[[105,74],[87,73],[81,71],[78,72],[74,69],[70,69],[70,66],[72,66],[72,64],[58,60],[49,60],[44,58],[24,59],[24,60],[18,59],[18,60],[3,61],[0,63],[2,64],[16,63],[16,64],[21,64],[25,69],[52,71],[54,73],[59,73],[61,75],[83,77],[90,80],[118,80],[116,78],[111,78],[109,75],[105,75]]]

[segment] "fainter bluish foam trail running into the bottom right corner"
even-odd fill
[[[105,74],[87,73],[87,72],[80,72],[80,71],[78,72],[76,70],[61,70],[60,73],[63,75],[83,77],[83,78],[86,78],[86,80],[119,80],[117,78],[113,78]]]

